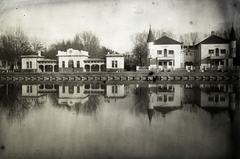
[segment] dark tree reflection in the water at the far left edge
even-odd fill
[[[37,98],[22,97],[21,85],[5,84],[0,87],[0,107],[7,112],[7,119],[22,121],[30,109],[39,110],[42,104]]]

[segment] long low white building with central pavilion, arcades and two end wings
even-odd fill
[[[58,60],[44,59],[38,55],[21,56],[22,71],[28,72],[121,72],[124,71],[124,56],[108,53],[105,58],[89,58],[87,51],[69,48],[58,51]]]

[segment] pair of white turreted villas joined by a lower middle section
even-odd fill
[[[182,46],[166,36],[155,40],[150,28],[147,50],[149,70],[188,69],[188,66],[198,66],[202,70],[232,69],[236,58],[236,35],[232,27],[229,40],[213,34],[195,46]]]

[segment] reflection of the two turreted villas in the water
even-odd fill
[[[236,109],[232,84],[149,84],[136,88],[135,103],[135,111],[147,110],[150,124],[155,112],[165,118],[176,110],[197,113],[202,109],[212,119],[216,114],[229,112],[232,120]]]

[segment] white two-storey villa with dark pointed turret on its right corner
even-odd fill
[[[225,70],[233,67],[236,36],[232,27],[229,40],[211,35],[196,45],[197,61],[202,69]]]

